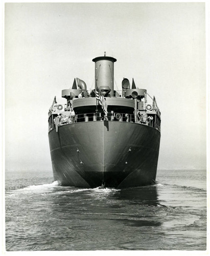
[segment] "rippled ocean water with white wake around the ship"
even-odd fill
[[[157,184],[127,189],[5,176],[7,251],[206,250],[205,170],[158,170]]]

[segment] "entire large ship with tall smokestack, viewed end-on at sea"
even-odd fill
[[[49,109],[54,180],[81,188],[155,183],[161,122],[155,97],[134,78],[122,78],[121,90],[114,90],[114,57],[104,53],[92,61],[92,89],[74,77],[71,89],[62,90],[64,104],[55,96]]]

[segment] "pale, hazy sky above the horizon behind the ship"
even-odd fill
[[[5,168],[51,170],[48,111],[74,78],[87,89],[92,59],[114,63],[155,95],[158,169],[206,168],[205,3],[6,3]]]

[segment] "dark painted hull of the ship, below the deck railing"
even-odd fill
[[[160,133],[130,122],[71,123],[49,132],[54,179],[64,186],[134,187],[156,178]]]

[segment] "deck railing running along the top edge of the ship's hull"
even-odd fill
[[[118,121],[118,122],[131,122],[151,126],[160,132],[160,125],[155,122],[154,118],[149,115],[133,115],[127,113],[108,113],[107,117],[103,113],[86,113],[78,114],[76,116],[63,116],[60,118],[58,126],[91,121]],[[49,131],[56,127],[55,120],[50,122]]]

